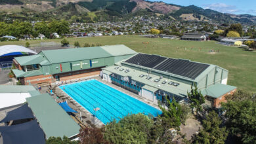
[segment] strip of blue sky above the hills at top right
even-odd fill
[[[150,0],[160,1],[160,0]],[[188,6],[196,5],[231,14],[252,14],[256,16],[256,0],[161,0],[165,3]]]

